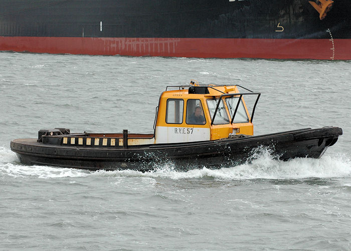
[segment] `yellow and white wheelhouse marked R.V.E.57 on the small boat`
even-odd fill
[[[177,90],[167,90],[176,87]],[[243,88],[243,87],[242,87]],[[252,118],[260,93],[237,85],[167,86],[161,94],[155,143],[210,141],[253,135]],[[243,96],[257,95],[250,114]]]

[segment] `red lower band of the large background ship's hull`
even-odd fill
[[[5,51],[197,58],[350,60],[351,39],[0,37]]]

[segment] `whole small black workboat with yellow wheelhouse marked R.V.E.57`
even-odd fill
[[[239,90],[240,88],[240,90]],[[254,95],[251,113],[244,97]],[[324,127],[253,136],[261,93],[240,85],[167,86],[156,107],[154,133],[71,133],[40,130],[38,139],[17,139],[11,150],[25,165],[87,170],[149,171],[162,163],[178,170],[235,166],[267,147],[280,160],[319,158],[334,145],[341,128]]]

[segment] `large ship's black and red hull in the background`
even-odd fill
[[[348,0],[323,20],[307,0],[0,0],[0,50],[349,60],[350,11]]]

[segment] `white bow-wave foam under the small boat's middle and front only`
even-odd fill
[[[188,172],[179,172],[174,171],[174,166],[168,163],[152,172],[97,171],[92,175],[172,180],[206,177],[220,180],[333,178],[351,176],[351,161],[346,156],[323,156],[320,159],[296,158],[284,162],[275,159],[269,151],[266,151],[251,163],[216,170],[203,167]]]

